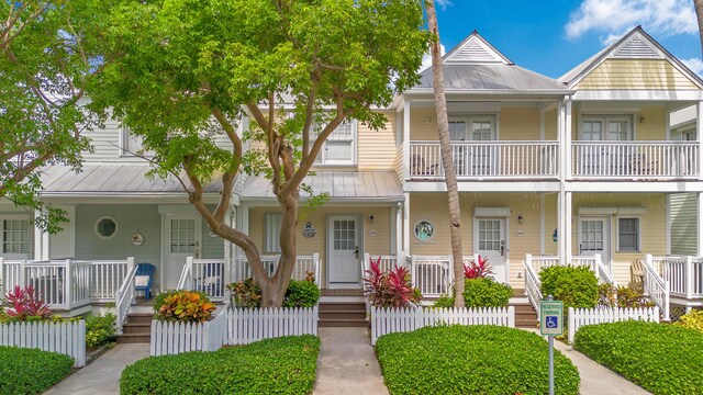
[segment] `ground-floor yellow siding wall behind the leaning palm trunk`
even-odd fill
[[[422,219],[435,225],[435,235],[427,241],[417,240],[411,234],[412,255],[451,253],[447,210],[447,195],[444,193],[413,193],[410,199],[410,228]],[[522,261],[525,253],[539,253],[539,195],[516,193],[462,193],[461,204],[461,238],[465,255],[473,253],[473,208],[475,207],[511,207],[512,214],[507,218],[506,244],[509,248],[510,283],[513,287],[524,287],[524,279],[517,273],[523,271]],[[517,223],[517,216],[523,215],[525,222]],[[522,230],[523,236],[516,236]]]

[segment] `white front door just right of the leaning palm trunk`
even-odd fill
[[[477,218],[473,224],[473,250],[481,258],[488,258],[495,281],[507,283],[505,218]]]

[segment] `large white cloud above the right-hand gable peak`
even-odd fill
[[[665,37],[699,32],[691,0],[583,0],[565,31],[569,38],[590,31],[603,33],[601,42],[609,45],[639,24]]]

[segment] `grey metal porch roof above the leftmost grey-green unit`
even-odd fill
[[[66,166],[52,166],[42,171],[43,193],[175,193],[185,192],[174,177],[168,180],[148,178],[148,163],[85,163],[76,173]],[[188,180],[183,178],[189,185]],[[215,181],[204,185],[207,193],[216,193],[221,183]]]

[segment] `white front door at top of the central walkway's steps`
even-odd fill
[[[359,217],[354,215],[331,216],[328,219],[327,268],[331,287],[359,285]]]

